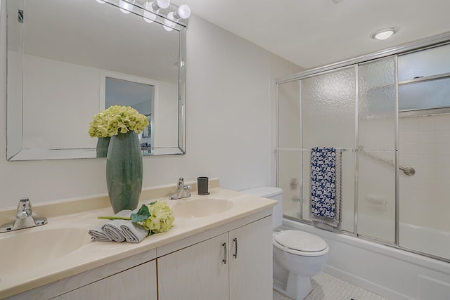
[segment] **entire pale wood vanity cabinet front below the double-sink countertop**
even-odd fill
[[[271,300],[271,219],[271,209],[265,209],[200,227],[179,240],[6,299]]]

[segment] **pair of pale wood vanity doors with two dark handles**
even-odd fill
[[[271,216],[158,257],[159,300],[272,299]]]

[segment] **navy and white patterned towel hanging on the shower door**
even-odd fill
[[[314,223],[338,227],[342,220],[341,150],[311,149],[309,217]]]

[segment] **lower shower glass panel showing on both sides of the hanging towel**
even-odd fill
[[[311,152],[303,152],[302,171],[302,219],[311,221],[309,218],[311,174],[310,159]],[[353,151],[342,151],[342,222],[341,229],[353,233],[354,228],[354,155]]]

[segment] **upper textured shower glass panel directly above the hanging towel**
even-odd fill
[[[353,67],[302,79],[303,147],[354,148]]]

